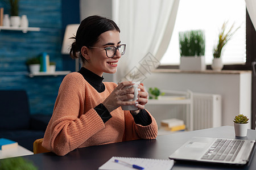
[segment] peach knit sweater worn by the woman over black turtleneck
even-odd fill
[[[112,118],[104,124],[94,107],[117,86],[112,82],[104,84],[105,91],[99,93],[80,73],[65,76],[44,134],[43,147],[57,155],[66,155],[80,147],[156,138],[158,126],[151,114],[152,123],[142,126],[135,124],[129,111],[119,107],[110,113]]]

